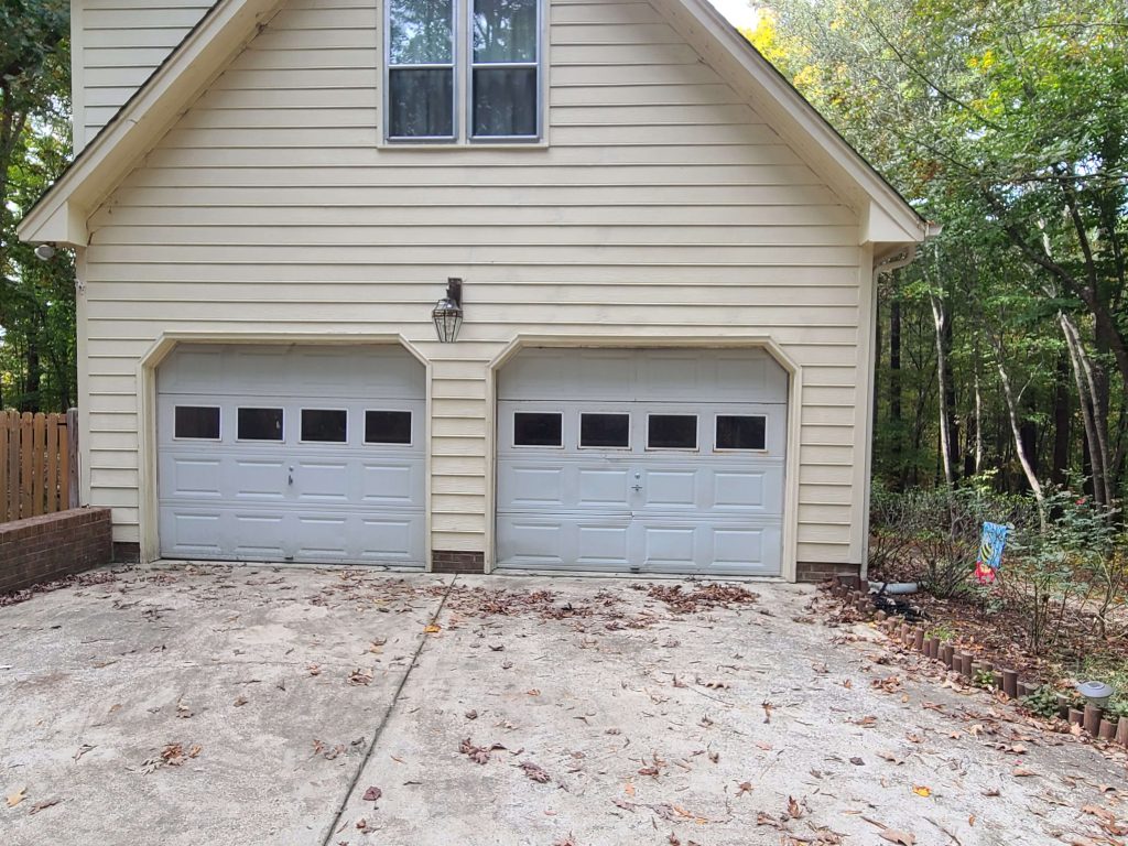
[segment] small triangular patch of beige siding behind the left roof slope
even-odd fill
[[[72,0],[76,153],[212,6],[208,0]]]

